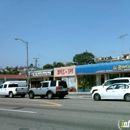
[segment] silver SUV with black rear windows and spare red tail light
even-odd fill
[[[28,94],[30,99],[35,96],[41,98],[47,96],[48,99],[59,97],[62,99],[68,94],[68,87],[66,81],[62,80],[42,81],[36,88],[30,88]]]

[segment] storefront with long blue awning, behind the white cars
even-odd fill
[[[117,61],[76,66],[76,75],[95,75],[96,85],[116,77],[130,77],[130,61]]]

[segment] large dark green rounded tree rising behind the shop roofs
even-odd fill
[[[83,64],[92,64],[94,62],[94,55],[90,52],[83,52],[80,54],[76,54],[73,57],[73,62],[77,62],[78,65],[83,65]]]

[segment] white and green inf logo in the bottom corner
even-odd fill
[[[124,121],[124,119],[118,121],[118,128],[123,130],[124,128],[130,128],[130,120]]]

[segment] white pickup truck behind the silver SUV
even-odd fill
[[[0,85],[0,96],[13,98],[14,96],[25,97],[28,92],[27,86],[19,86],[17,82],[5,82]]]

